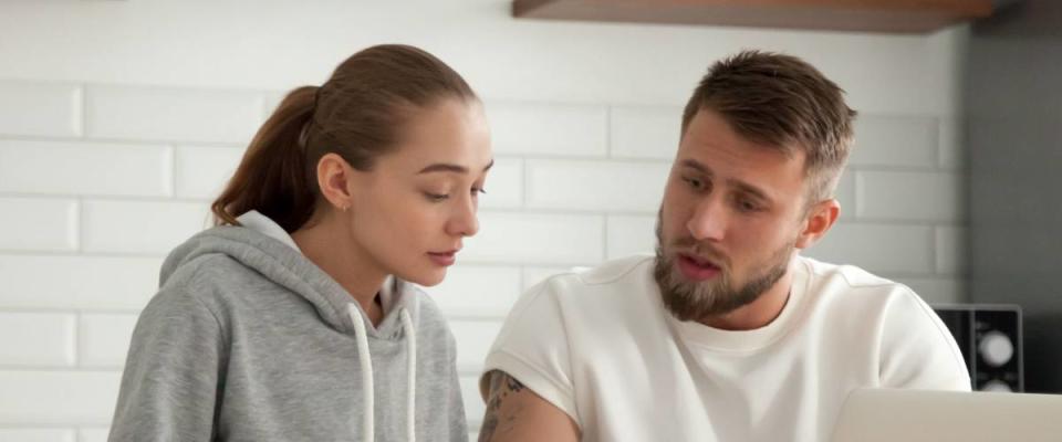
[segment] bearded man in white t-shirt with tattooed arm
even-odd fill
[[[854,116],[799,59],[716,63],[683,114],[656,256],[524,294],[487,357],[480,441],[823,441],[854,389],[969,390],[909,288],[799,254],[837,220]]]

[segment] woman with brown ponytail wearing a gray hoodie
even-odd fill
[[[140,315],[111,441],[465,441],[455,344],[413,284],[476,233],[482,106],[415,48],[292,91],[174,250]]]

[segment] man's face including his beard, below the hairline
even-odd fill
[[[756,301],[805,225],[804,154],[787,156],[701,109],[679,144],[657,220],[654,274],[668,309],[705,320]]]

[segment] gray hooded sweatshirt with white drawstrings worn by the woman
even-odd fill
[[[467,441],[454,336],[427,295],[393,284],[373,327],[292,244],[192,236],[133,333],[110,440]]]

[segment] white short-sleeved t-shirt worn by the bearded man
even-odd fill
[[[485,372],[517,378],[587,441],[825,441],[856,388],[970,389],[948,329],[904,285],[796,257],[781,314],[729,332],[675,319],[653,260],[528,291]]]

